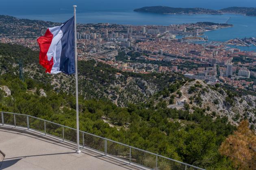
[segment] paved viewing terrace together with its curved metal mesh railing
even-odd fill
[[[0,112],[1,169],[204,170],[88,132],[17,113]],[[2,164],[1,164],[2,163]]]

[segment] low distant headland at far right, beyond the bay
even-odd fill
[[[235,14],[243,14],[247,16],[256,16],[256,8],[234,6],[229,8],[223,8],[219,11],[223,13],[235,13]]]

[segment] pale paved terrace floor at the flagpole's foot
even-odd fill
[[[146,170],[89,149],[77,154],[72,143],[22,128],[0,126],[0,151],[0,170]]]

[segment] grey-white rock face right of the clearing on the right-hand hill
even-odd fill
[[[197,88],[193,93],[189,94],[189,89],[193,86],[197,86]],[[221,87],[211,88],[199,80],[185,84],[182,87],[182,95],[188,99],[200,96],[201,103],[198,104],[193,100],[192,106],[208,107],[206,113],[215,112],[217,115],[227,116],[229,121],[234,124],[238,124],[244,118],[249,119],[251,124],[256,123],[256,96],[236,95],[230,97]],[[188,101],[190,102],[190,100]]]

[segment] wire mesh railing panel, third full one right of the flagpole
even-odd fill
[[[132,148],[131,162],[148,168],[156,168],[156,155]]]

